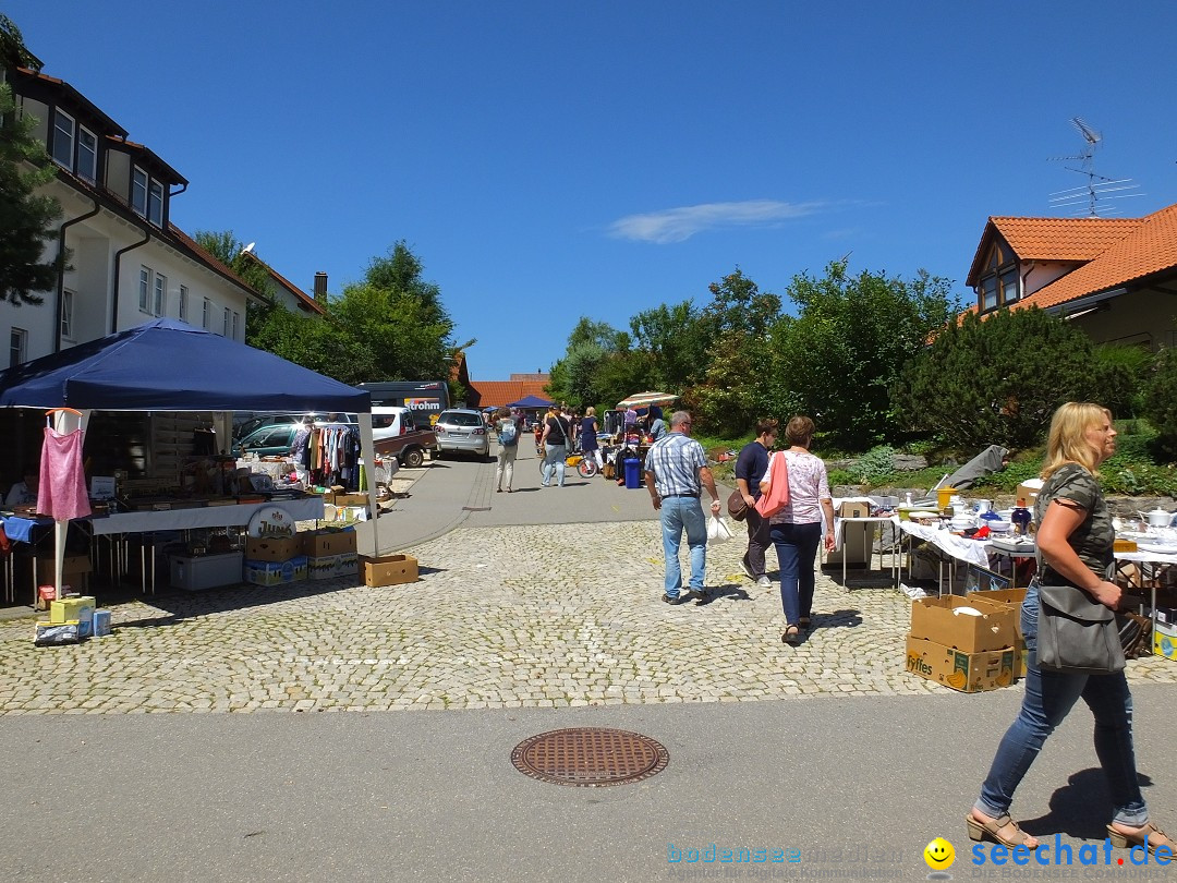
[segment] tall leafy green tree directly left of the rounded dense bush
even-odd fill
[[[885,273],[793,278],[798,316],[773,330],[773,369],[785,411],[806,413],[819,431],[857,450],[895,438],[900,423],[891,387],[927,339],[956,316],[946,279],[919,271],[913,281]]]

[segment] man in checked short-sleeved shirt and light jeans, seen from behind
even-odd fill
[[[666,557],[667,604],[681,604],[692,595],[704,592],[703,578],[707,564],[707,519],[699,502],[701,489],[711,494],[711,512],[719,514],[719,492],[707,469],[703,445],[691,438],[691,414],[676,411],[670,418],[670,434],[646,452],[646,487],[654,509],[661,513],[663,553]],[[683,592],[683,570],[678,549],[686,531],[691,550],[691,583]]]

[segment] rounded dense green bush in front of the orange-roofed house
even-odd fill
[[[951,321],[904,372],[897,400],[911,427],[962,447],[1022,449],[1045,437],[1055,409],[1100,398],[1092,344],[1042,310]]]

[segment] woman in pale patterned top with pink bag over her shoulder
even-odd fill
[[[817,582],[813,559],[822,542],[823,520],[825,547],[827,551],[833,549],[833,499],[825,464],[809,452],[813,432],[813,421],[807,417],[794,417],[785,426],[789,503],[769,519],[770,536],[780,563],[780,605],[785,611],[785,631],[780,639],[794,646],[802,642],[802,630],[810,628],[813,612]],[[771,480],[772,463],[760,482],[760,490],[766,490]]]

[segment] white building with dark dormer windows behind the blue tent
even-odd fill
[[[62,80],[2,72],[18,113],[56,164],[48,193],[61,205],[45,248],[69,252],[41,305],[0,303],[0,366],[35,359],[157,317],[245,340],[246,305],[259,296],[169,220],[187,180]]]

